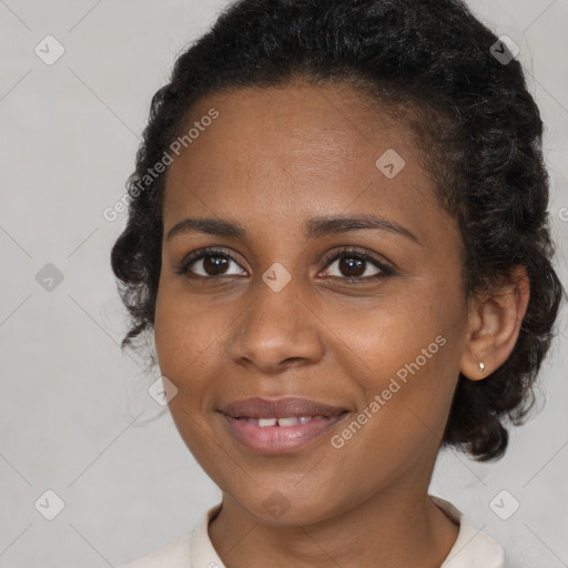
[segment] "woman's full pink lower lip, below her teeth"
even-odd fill
[[[347,413],[294,426],[258,426],[246,419],[222,415],[233,436],[246,448],[262,454],[284,454],[326,435]]]

